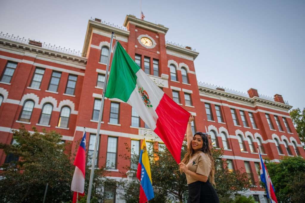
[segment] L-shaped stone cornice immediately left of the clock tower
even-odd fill
[[[125,37],[129,36],[129,31],[126,30],[122,30],[116,27],[112,27],[109,25],[105,25],[103,23],[99,23],[93,20],[89,20],[88,21],[88,26],[87,26],[87,32],[86,32],[86,37],[85,37],[85,41],[84,41],[84,47],[83,47],[83,57],[86,57],[87,52],[88,52],[88,48],[90,46],[90,40],[91,40],[91,35],[92,35],[92,30],[93,28],[97,28],[99,30],[104,30],[104,31],[108,31],[110,34],[111,32],[114,32],[115,35],[119,34]]]

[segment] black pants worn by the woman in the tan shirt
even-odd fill
[[[219,203],[218,195],[210,183],[209,180],[206,182],[196,181],[188,184],[188,202],[187,203]]]

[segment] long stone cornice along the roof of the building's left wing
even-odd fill
[[[59,60],[68,62],[68,63],[73,63],[73,64],[78,64],[78,65],[85,65],[87,63],[87,58],[80,57],[80,56],[75,56],[71,54],[65,54],[59,51],[53,51],[49,49],[45,49],[42,47],[37,47],[34,45],[30,44],[23,44],[11,40],[5,40],[0,38],[0,44],[2,48],[20,52],[20,53],[32,53],[32,54],[39,54],[41,56],[48,56],[48,58],[52,58],[54,60]],[[81,66],[83,66],[81,65]]]

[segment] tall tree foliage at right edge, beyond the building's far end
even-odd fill
[[[305,149],[305,108],[303,108],[302,112],[299,108],[292,109],[289,114]]]

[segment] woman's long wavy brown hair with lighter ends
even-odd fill
[[[210,149],[210,145],[209,145],[209,140],[208,140],[208,137],[207,137],[207,134],[203,134],[202,132],[196,132],[194,134],[195,135],[200,135],[202,140],[203,140],[203,145],[202,145],[202,149],[200,149],[199,151],[203,152],[203,153],[206,153],[208,155],[208,157],[210,158],[210,161],[212,163],[212,168],[211,168],[211,171],[210,171],[210,183],[213,184],[214,186],[216,185],[215,184],[215,180],[214,180],[214,173],[215,173],[215,161],[214,161],[214,158],[212,156],[212,152],[211,152],[211,149]],[[188,164],[189,160],[192,158],[192,156],[195,154],[195,150],[193,149],[192,147],[192,141],[189,143],[189,146],[188,146],[188,149],[187,149],[187,152],[185,153],[184,155],[184,158],[182,159],[181,162]],[[180,172],[182,173],[182,170],[180,169]]]

